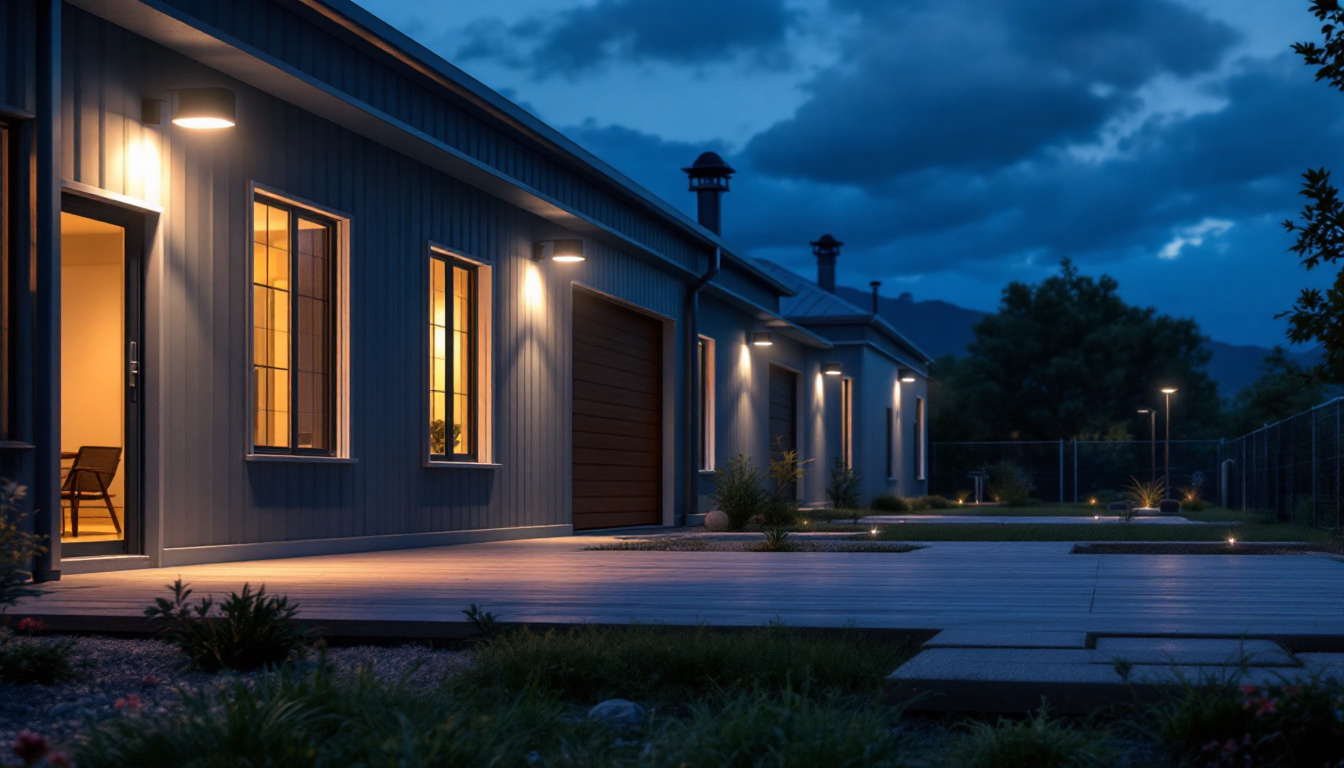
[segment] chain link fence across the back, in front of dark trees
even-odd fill
[[[1204,499],[1222,499],[1223,441],[1172,440],[1171,488],[1199,483]],[[954,496],[974,486],[972,472],[982,472],[999,461],[1012,461],[1025,471],[1035,484],[1032,496],[1044,502],[1079,503],[1117,499],[1132,479],[1163,479],[1165,471],[1163,441],[1149,440],[1048,440],[1004,443],[931,443],[929,444],[929,492]]]

